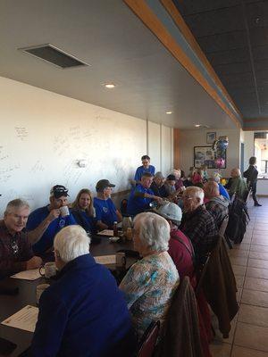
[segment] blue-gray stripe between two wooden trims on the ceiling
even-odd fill
[[[161,21],[166,29],[168,29],[169,33],[172,37],[176,40],[177,44],[180,48],[187,54],[188,58],[195,64],[198,71],[204,76],[207,82],[210,84],[211,87],[218,93],[222,102],[228,106],[231,112],[238,118],[240,122],[239,114],[236,112],[232,104],[230,104],[229,100],[226,96],[222,93],[222,89],[216,85],[214,79],[211,78],[210,74],[206,70],[203,62],[200,61],[199,57],[195,53],[195,51],[189,46],[187,40],[180,32],[180,29],[175,25],[172,20],[170,14],[164,9],[163,5],[159,2],[159,0],[145,0],[147,5],[151,8],[151,10],[155,13],[158,20]]]

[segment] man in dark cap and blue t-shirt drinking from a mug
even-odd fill
[[[29,231],[29,239],[33,244],[35,253],[45,256],[51,253],[54,236],[63,227],[76,224],[72,214],[64,215],[61,207],[66,206],[68,210],[68,189],[61,185],[56,185],[50,190],[50,204],[38,208],[29,215],[26,228]],[[69,212],[69,211],[68,211]]]

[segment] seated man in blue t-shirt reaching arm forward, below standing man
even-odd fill
[[[156,196],[150,189],[152,182],[153,176],[146,172],[141,177],[141,184],[132,189],[127,208],[130,216],[136,216],[136,214],[148,210],[150,208],[149,203],[153,200],[162,201],[162,198]]]

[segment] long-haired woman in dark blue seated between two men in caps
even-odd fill
[[[89,233],[96,232],[95,210],[91,192],[82,188],[74,203],[71,204],[71,213],[77,223]]]

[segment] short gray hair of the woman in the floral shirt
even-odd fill
[[[144,246],[152,251],[162,252],[169,249],[171,228],[168,222],[161,216],[151,212],[139,213],[134,224],[138,223],[139,239]]]

